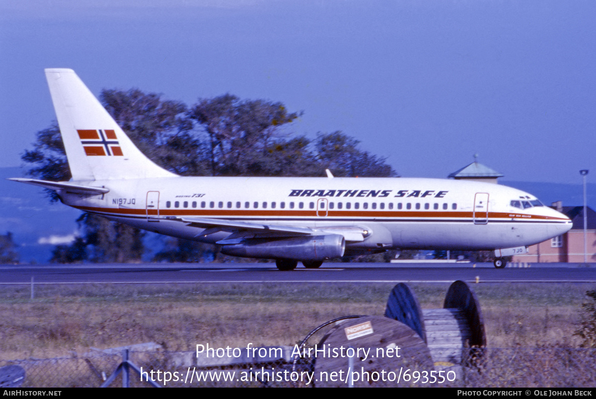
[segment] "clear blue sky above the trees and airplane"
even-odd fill
[[[596,180],[596,2],[2,0],[0,167],[55,119],[43,70],[98,93],[282,101],[402,176],[474,160],[506,180]]]

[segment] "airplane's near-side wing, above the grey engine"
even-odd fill
[[[227,219],[204,219],[184,217],[182,222],[188,226],[202,227],[203,230],[197,236],[207,236],[217,232],[229,232],[230,235],[218,241],[217,244],[237,244],[246,238],[275,238],[288,236],[317,235],[321,233],[340,234],[346,241],[364,241],[367,230],[361,227],[338,226],[338,227],[296,227],[285,225],[265,225],[262,223],[240,222]]]

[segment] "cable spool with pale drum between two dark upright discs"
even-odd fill
[[[422,310],[405,283],[389,294],[385,316],[412,328],[426,342],[434,364],[461,364],[470,348],[486,347],[486,334],[480,304],[463,281],[451,284],[442,309]]]

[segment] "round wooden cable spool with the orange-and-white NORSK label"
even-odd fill
[[[327,376],[331,373],[336,376],[336,381],[317,381],[316,386],[346,386],[345,379],[340,382],[337,378],[341,376],[340,372],[346,376],[349,359],[347,356],[333,356],[334,351],[340,354],[342,347],[344,353],[347,348],[361,350],[359,356],[353,359],[352,371],[355,370],[359,376],[364,375],[365,381],[355,381],[355,386],[385,386],[388,382],[395,385],[387,379],[391,377],[388,373],[395,375],[401,367],[403,370],[429,370],[433,364],[429,348],[417,332],[403,323],[381,316],[363,316],[342,322],[331,328],[316,347],[319,350],[323,348],[325,353],[319,353],[313,361],[315,375],[319,377],[324,372]],[[362,350],[369,350],[366,359]],[[373,375],[375,372],[378,374]],[[380,378],[383,372],[385,381]]]

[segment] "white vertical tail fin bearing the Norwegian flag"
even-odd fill
[[[45,70],[73,180],[175,177],[147,158],[72,69]]]

